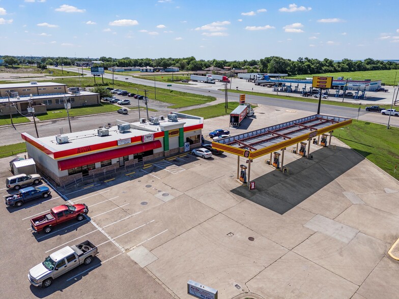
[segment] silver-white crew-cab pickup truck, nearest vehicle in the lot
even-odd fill
[[[98,249],[90,241],[67,246],[50,254],[40,264],[34,266],[27,275],[29,282],[37,287],[49,287],[57,278],[78,265],[88,265],[98,254]]]

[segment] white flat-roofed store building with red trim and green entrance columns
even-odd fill
[[[58,185],[83,176],[168,157],[201,146],[202,117],[171,112],[144,118],[138,123],[117,121],[101,127],[65,135],[35,138],[22,133],[26,152],[36,167]]]

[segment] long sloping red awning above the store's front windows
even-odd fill
[[[151,151],[151,149],[162,147],[162,143],[159,140],[131,145],[127,147],[111,149],[110,151],[76,157],[72,159],[58,161],[58,168],[60,170],[71,169],[83,165],[89,165],[101,161],[115,159],[119,157],[129,156],[137,153],[143,153]]]

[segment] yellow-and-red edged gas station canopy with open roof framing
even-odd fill
[[[212,147],[237,156],[254,159],[318,135],[332,132],[351,123],[351,118],[315,114],[213,141]]]

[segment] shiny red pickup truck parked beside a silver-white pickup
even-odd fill
[[[53,207],[50,213],[35,217],[31,219],[32,229],[36,232],[44,230],[45,233],[49,233],[52,227],[68,221],[72,218],[76,218],[78,221],[84,219],[84,214],[88,214],[89,208],[84,203],[78,204],[63,204]]]

